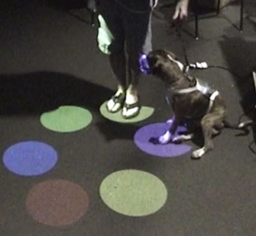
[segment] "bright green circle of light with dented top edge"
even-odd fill
[[[46,129],[60,133],[79,131],[87,127],[91,120],[92,115],[87,109],[72,105],[63,105],[40,117]]]

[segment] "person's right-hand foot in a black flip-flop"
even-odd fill
[[[126,94],[122,116],[125,119],[134,118],[139,115],[140,110],[141,105],[139,104],[139,97],[137,97],[137,95]]]

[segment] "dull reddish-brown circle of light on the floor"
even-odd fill
[[[67,180],[48,180],[29,190],[26,207],[42,224],[66,226],[78,221],[87,211],[89,197],[78,184]]]

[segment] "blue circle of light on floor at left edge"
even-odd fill
[[[53,147],[39,141],[23,141],[10,146],[3,154],[5,167],[18,175],[41,175],[57,163]]]

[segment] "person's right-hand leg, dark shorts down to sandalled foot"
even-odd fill
[[[122,114],[124,118],[137,116],[140,111],[138,83],[141,71],[139,68],[139,56],[152,50],[150,10],[144,13],[126,11],[126,52],[128,54],[128,82],[126,100]]]

